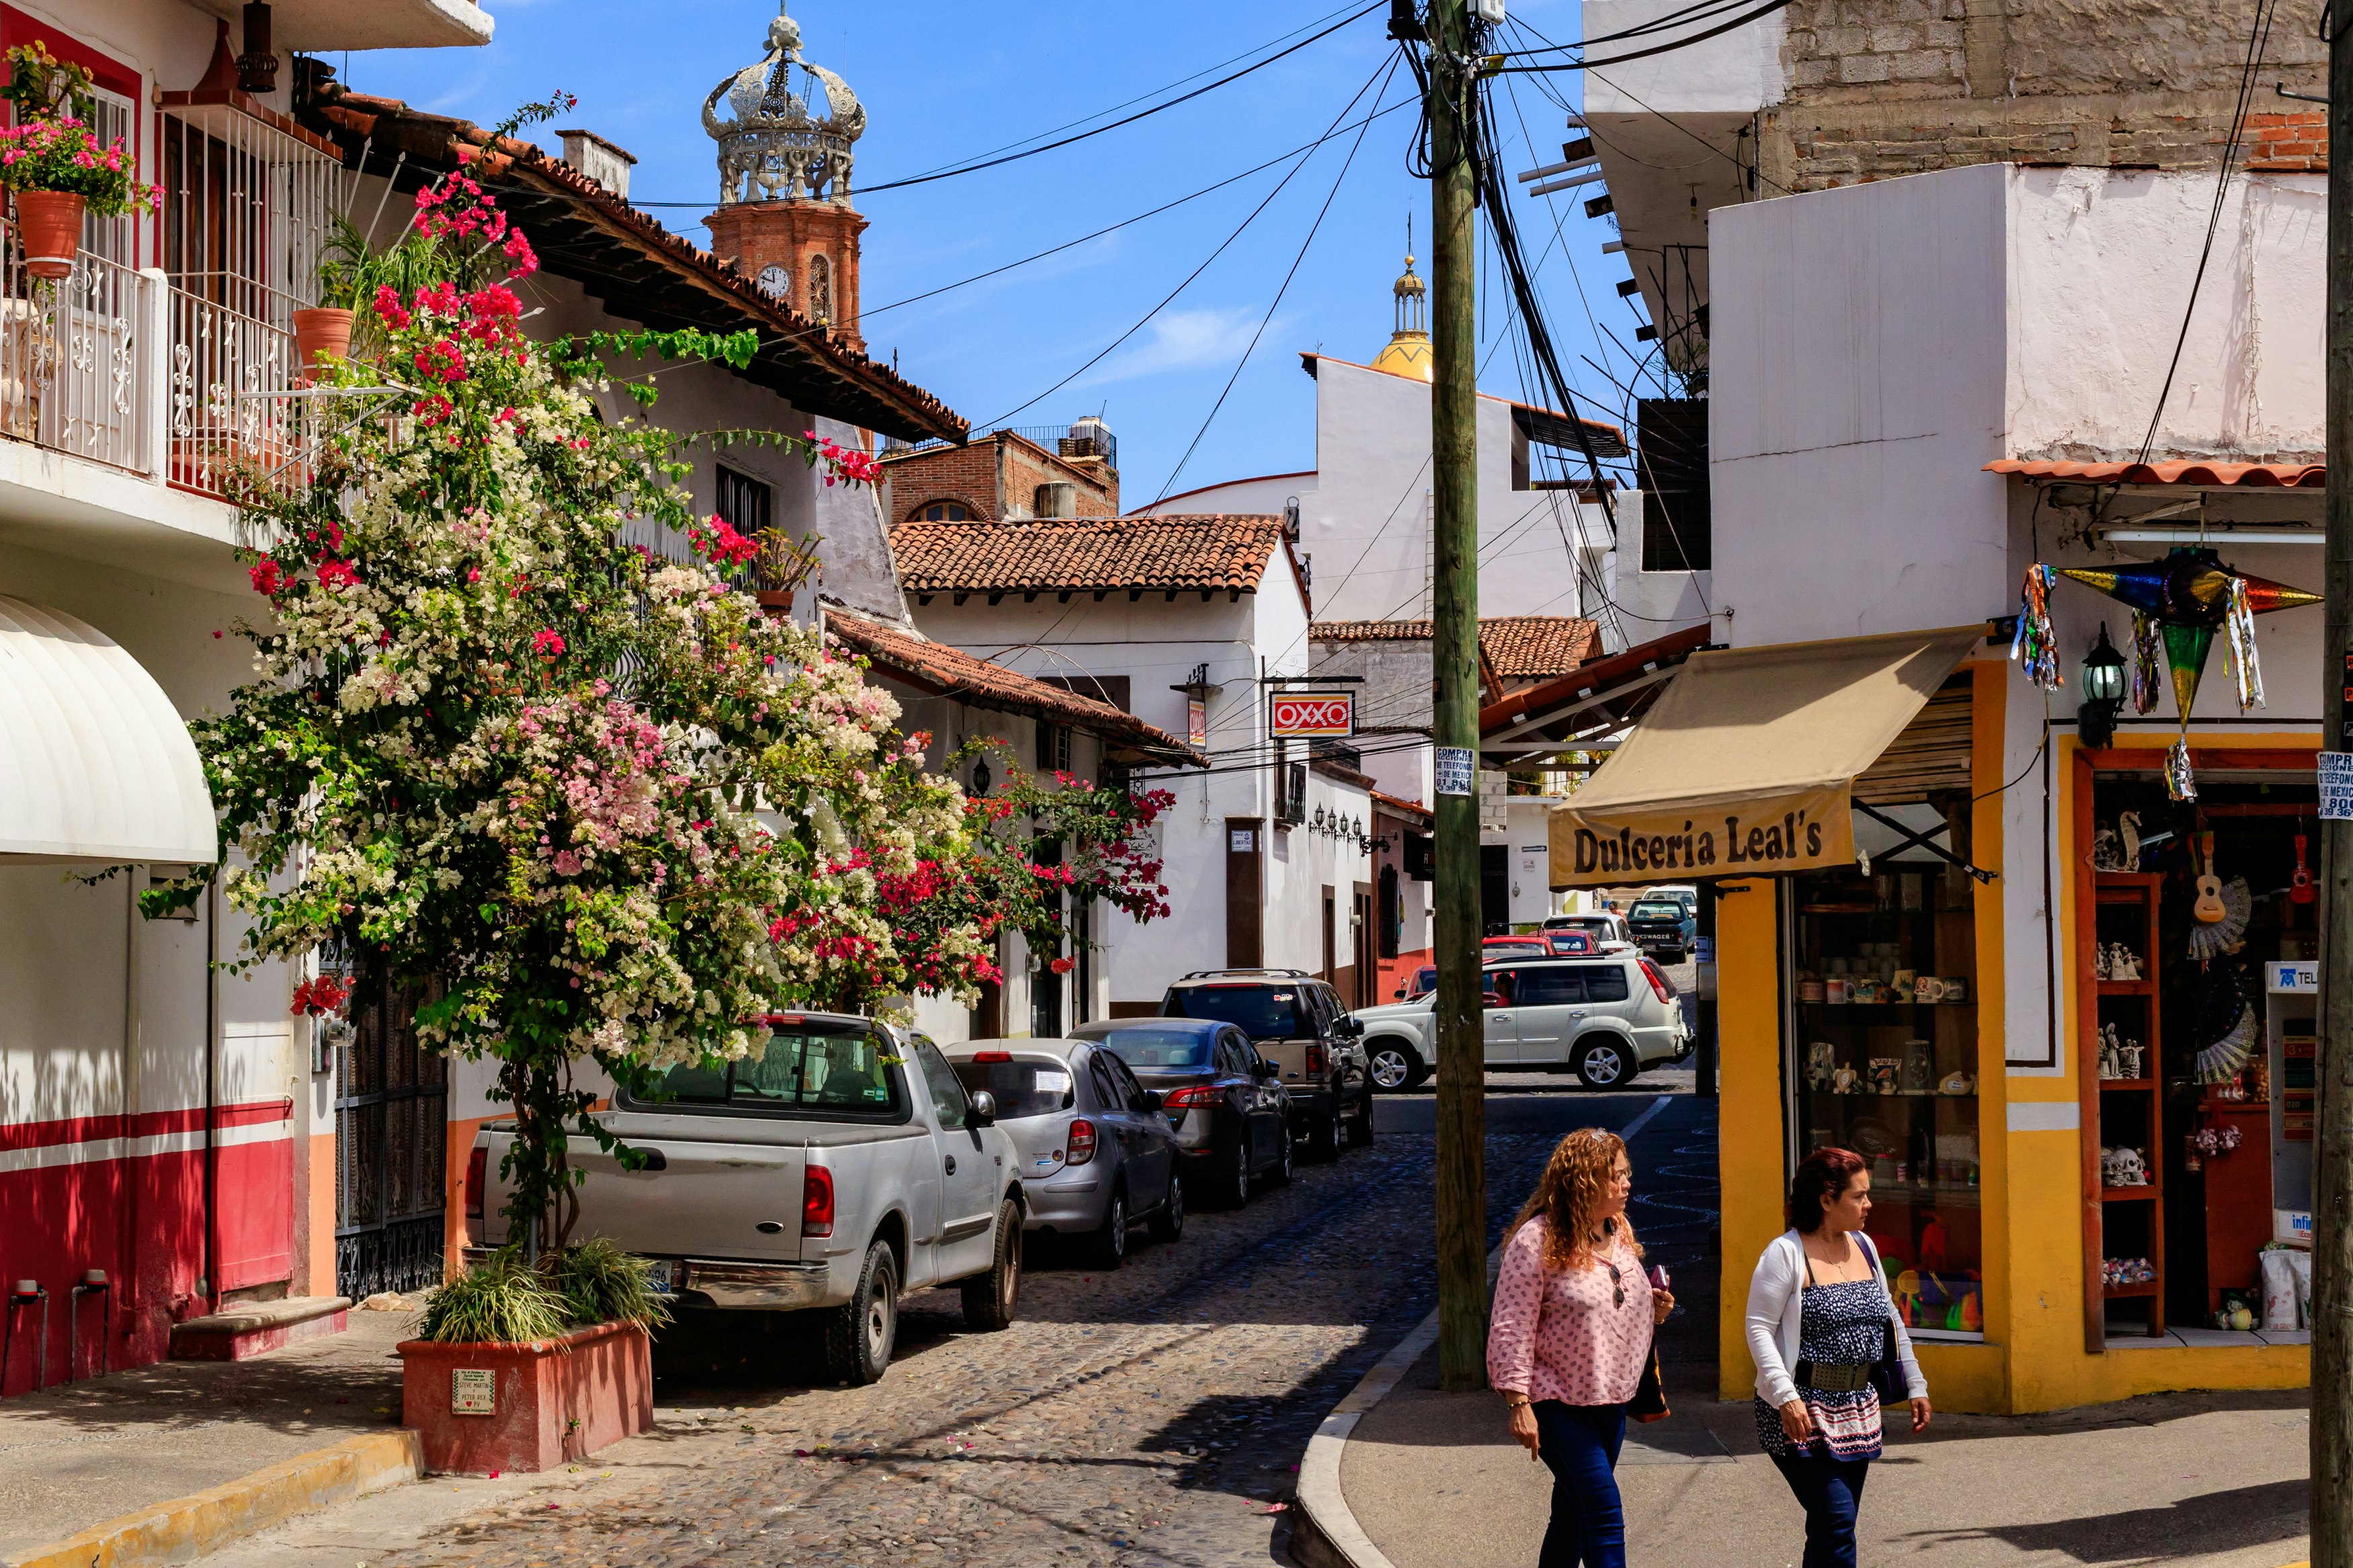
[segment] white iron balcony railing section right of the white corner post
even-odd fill
[[[311,475],[311,400],[294,386],[294,334],[172,287],[167,477],[231,496],[296,489]]]

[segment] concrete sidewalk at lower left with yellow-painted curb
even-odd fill
[[[0,1401],[0,1561],[400,1425],[412,1312],[252,1361],[165,1361]]]

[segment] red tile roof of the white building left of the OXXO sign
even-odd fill
[[[901,522],[899,583],[932,592],[1257,592],[1280,517],[1031,517]]]

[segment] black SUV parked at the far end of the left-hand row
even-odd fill
[[[1322,980],[1299,969],[1205,969],[1169,985],[1160,1013],[1240,1027],[1282,1072],[1292,1131],[1308,1140],[1315,1159],[1337,1159],[1341,1140],[1372,1143],[1362,1030]]]

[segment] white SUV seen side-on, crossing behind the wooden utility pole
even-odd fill
[[[1640,954],[1508,959],[1482,969],[1480,980],[1489,1072],[1574,1072],[1586,1088],[1624,1088],[1645,1067],[1689,1056],[1675,987]],[[1388,1079],[1384,1088],[1409,1088],[1438,1065],[1435,1001],[1353,1013],[1377,1081]]]

